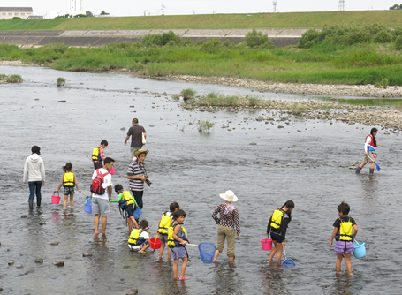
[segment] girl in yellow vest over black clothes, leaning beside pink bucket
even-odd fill
[[[271,262],[277,253],[276,262],[279,264],[282,258],[282,252],[284,251],[284,238],[286,235],[287,225],[292,221],[292,210],[294,208],[294,202],[287,200],[282,208],[277,208],[269,219],[267,227],[267,236],[270,232],[270,238],[274,243],[274,249],[269,254],[268,263]]]

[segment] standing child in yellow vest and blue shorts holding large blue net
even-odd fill
[[[173,276],[177,280],[188,280],[189,277],[185,276],[188,255],[186,251],[187,245],[187,232],[182,224],[185,222],[186,212],[178,209],[173,213],[173,223],[168,231],[168,246],[171,248],[171,257],[173,258]],[[180,276],[178,276],[178,260],[181,258]]]

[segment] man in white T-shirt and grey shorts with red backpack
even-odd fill
[[[115,160],[107,157],[104,160],[104,165],[94,171],[92,179],[100,177],[103,179],[102,187],[103,194],[92,193],[92,212],[95,213],[95,235],[99,233],[99,219],[102,218],[102,235],[106,234],[106,224],[108,223],[108,214],[110,213],[109,200],[111,198],[111,174],[109,170],[113,168]]]

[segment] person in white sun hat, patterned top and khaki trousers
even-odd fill
[[[224,204],[216,207],[212,218],[215,219],[217,226],[217,247],[215,251],[214,260],[216,261],[219,253],[224,251],[224,239],[227,240],[227,255],[229,262],[234,261],[235,250],[235,236],[240,238],[240,217],[238,208],[234,207],[231,203],[238,201],[238,197],[232,191],[226,191],[219,194]],[[219,214],[219,217],[217,216]]]

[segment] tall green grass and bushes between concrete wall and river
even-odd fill
[[[207,43],[143,47],[140,43],[124,42],[99,48],[52,44],[38,49],[0,44],[0,60],[47,64],[53,69],[75,72],[127,69],[151,76],[186,74],[294,83],[382,82],[383,86],[402,86],[402,53],[394,50],[392,43],[346,46],[323,42],[311,49],[269,50],[250,49],[244,43],[231,48],[216,42],[205,46]]]

